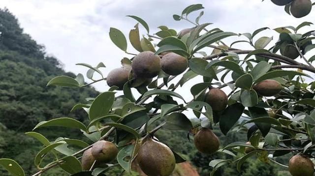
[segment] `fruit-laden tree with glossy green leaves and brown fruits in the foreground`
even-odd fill
[[[299,13],[297,17],[307,15],[311,10],[305,9],[312,8],[310,0],[272,1],[291,8],[292,14]],[[315,37],[314,31],[299,32],[312,23],[275,28],[278,39],[271,46],[273,37],[257,37],[268,27],[252,33],[226,32],[209,27],[210,23],[199,24],[203,11],[194,22],[189,20],[191,12],[201,9],[201,4],[193,4],[181,15],[173,15],[176,21],[194,25],[180,32],[159,26],[159,31],[150,34],[144,20],[128,16],[138,22],[128,38],[139,53],[128,52],[125,35],[110,28],[110,39],[130,57],[123,58],[122,66],[107,76],[99,70],[105,67],[102,63],[96,67],[78,64],[89,68],[86,77],[92,83],[106,81],[110,88],[95,98],[87,98],[88,104],[74,105],[72,111],[83,108],[87,112],[89,123],[63,117],[41,122],[26,133],[43,145],[34,158],[39,171],[32,176],[54,167],[73,176],[102,176],[117,166],[125,173],[134,170],[149,176],[169,176],[175,164],[185,159],[154,137],[160,128],[187,131],[188,138],[193,138],[196,149],[202,153],[230,155],[232,159],[209,161],[212,174],[233,163],[240,171],[249,157],[278,163],[276,157],[292,153],[288,166],[278,164],[287,167],[292,176],[313,176],[315,68],[311,63],[315,55],[308,57],[308,52],[315,48]],[[139,24],[147,35],[140,37]],[[96,80],[96,74],[101,78]],[[203,80],[195,79],[200,82],[176,92],[195,77]],[[79,74],[76,78],[55,77],[48,85],[79,88],[92,83],[85,84],[84,76]],[[185,100],[180,93],[191,94],[192,99]],[[77,128],[91,143],[66,138],[66,133],[49,141],[35,132],[48,126]],[[246,131],[244,141],[248,142],[222,146],[212,132],[213,126],[219,126],[224,135]],[[45,160],[48,153],[56,159]],[[0,159],[0,165],[13,176],[25,175],[11,159]]]

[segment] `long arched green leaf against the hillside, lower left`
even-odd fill
[[[40,122],[33,128],[33,130],[40,127],[44,127],[44,126],[62,126],[62,127],[77,128],[77,129],[82,129],[84,131],[87,131],[86,126],[82,124],[80,121],[77,121],[75,119],[71,119],[68,117],[62,117],[62,118],[52,119],[50,121]]]

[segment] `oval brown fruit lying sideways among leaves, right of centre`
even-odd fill
[[[271,97],[278,94],[282,86],[278,81],[266,79],[254,85],[253,89],[261,96]]]

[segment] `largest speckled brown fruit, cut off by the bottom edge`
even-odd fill
[[[141,146],[137,161],[148,176],[169,176],[175,169],[175,156],[164,144],[148,139]]]

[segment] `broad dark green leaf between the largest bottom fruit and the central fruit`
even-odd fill
[[[192,125],[185,114],[174,112],[166,117],[166,123],[163,127],[170,130],[189,131]]]

